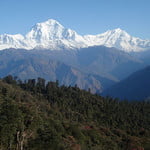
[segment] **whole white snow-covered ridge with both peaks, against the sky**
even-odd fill
[[[95,45],[116,47],[127,52],[143,51],[150,49],[150,40],[132,37],[119,28],[98,35],[81,36],[53,19],[37,23],[25,36],[0,35],[0,50],[7,48],[61,50]]]

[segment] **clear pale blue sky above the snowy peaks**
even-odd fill
[[[150,0],[0,0],[0,34],[23,34],[55,19],[78,34],[121,28],[150,39]]]

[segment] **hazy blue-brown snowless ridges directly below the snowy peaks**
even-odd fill
[[[42,77],[59,80],[60,85],[77,85],[101,93],[134,71],[144,61],[105,46],[78,51],[7,49],[0,51],[0,77],[17,76],[22,80]]]

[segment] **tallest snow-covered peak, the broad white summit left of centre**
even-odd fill
[[[27,45],[33,48],[74,49],[84,46],[84,39],[71,29],[64,28],[55,20],[37,23],[25,36]]]

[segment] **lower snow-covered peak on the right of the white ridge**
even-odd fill
[[[104,45],[107,47],[115,47],[127,52],[142,51],[150,48],[150,40],[142,40],[140,38],[130,36],[126,31],[120,28],[109,30],[98,35],[84,36],[90,46]]]

